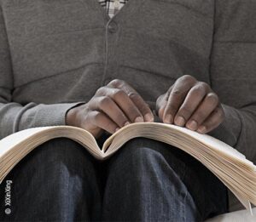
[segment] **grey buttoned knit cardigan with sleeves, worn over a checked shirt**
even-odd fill
[[[95,0],[0,0],[0,139],[64,125],[114,78],[154,109],[178,77],[209,83],[212,134],[256,159],[256,1],[131,0],[111,20]]]

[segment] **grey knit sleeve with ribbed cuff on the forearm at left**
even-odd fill
[[[75,105],[0,103],[0,139],[25,128],[65,125],[66,113]]]

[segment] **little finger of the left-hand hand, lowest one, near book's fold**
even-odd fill
[[[119,129],[119,126],[115,122],[100,111],[90,111],[88,121],[94,126],[106,130],[110,134],[113,134]]]

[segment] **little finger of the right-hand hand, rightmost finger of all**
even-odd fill
[[[211,132],[214,128],[217,128],[218,125],[224,121],[224,111],[221,105],[219,105],[211,115],[207,117],[205,122],[197,129],[197,132],[200,134],[207,134]]]

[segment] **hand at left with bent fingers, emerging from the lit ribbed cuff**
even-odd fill
[[[154,122],[154,115],[135,89],[115,79],[99,88],[88,103],[69,110],[66,122],[97,138],[103,130],[113,134],[131,122]]]

